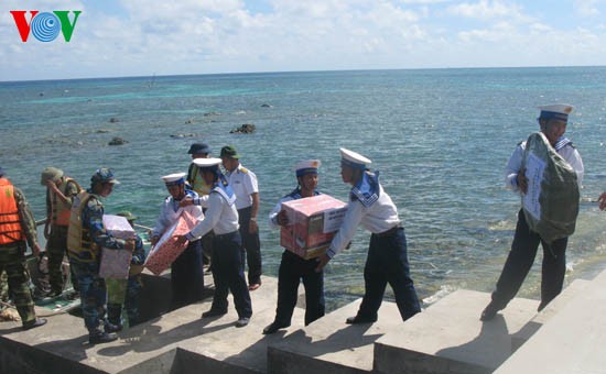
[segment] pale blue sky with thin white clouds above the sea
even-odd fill
[[[82,13],[69,42],[23,42],[11,11],[29,29],[32,10]],[[0,81],[606,65],[605,15],[606,0],[2,0]]]

